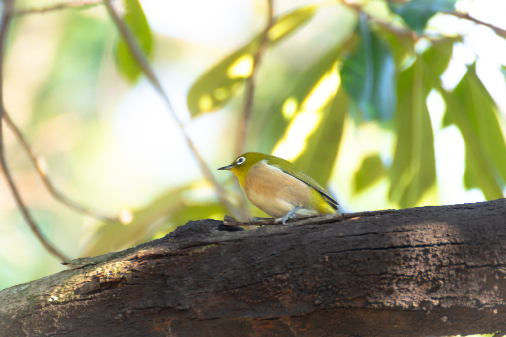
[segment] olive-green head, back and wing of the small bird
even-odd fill
[[[339,205],[338,202],[336,202],[332,197],[330,197],[328,192],[325,189],[323,189],[323,187],[318,182],[316,182],[316,180],[314,180],[309,175],[301,171],[299,168],[297,168],[289,161],[286,161],[278,157],[264,155],[262,153],[255,153],[255,152],[245,153],[239,156],[237,159],[241,157],[244,157],[246,159],[244,163],[240,165],[240,170],[243,172],[243,174],[245,174],[252,165],[257,164],[262,160],[265,160],[267,164],[278,167],[286,174],[296,177],[297,179],[304,181],[309,186],[316,189],[318,192],[320,192],[323,198],[329,203],[329,205],[332,206],[333,209],[338,209]]]

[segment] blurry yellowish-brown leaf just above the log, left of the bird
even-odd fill
[[[168,216],[185,208],[183,193],[191,186],[167,192],[146,207],[133,211],[133,221],[127,225],[119,221],[106,222],[95,232],[81,256],[95,256],[132,247],[151,237]]]

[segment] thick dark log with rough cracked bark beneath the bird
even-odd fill
[[[506,200],[229,232],[190,221],[0,292],[0,336],[427,336],[506,330]],[[221,230],[220,230],[221,229]]]

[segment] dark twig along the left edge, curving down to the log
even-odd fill
[[[5,114],[5,104],[4,104],[4,56],[5,56],[5,47],[6,47],[6,39],[9,31],[9,27],[11,24],[11,20],[14,14],[14,2],[15,0],[4,0],[4,8],[2,13],[2,26],[0,27],[0,121]],[[68,258],[63,255],[58,249],[56,249],[40,232],[37,223],[33,219],[30,211],[24,204],[21,196],[19,194],[18,188],[12,179],[11,172],[9,171],[9,167],[7,166],[7,162],[5,160],[5,151],[4,151],[4,134],[3,134],[3,125],[0,122],[0,164],[2,166],[2,170],[4,171],[5,177],[9,184],[9,188],[11,189],[12,195],[16,204],[21,211],[26,223],[30,227],[31,231],[39,242],[46,248],[46,250],[58,257],[61,261],[68,260]]]

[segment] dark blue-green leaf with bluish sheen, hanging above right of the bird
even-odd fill
[[[388,44],[369,30],[364,13],[356,31],[361,41],[344,62],[343,84],[357,101],[364,120],[391,120],[397,102],[394,56]]]

